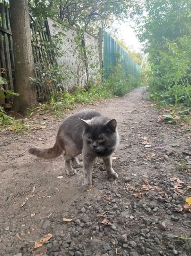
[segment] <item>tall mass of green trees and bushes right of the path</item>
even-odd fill
[[[136,9],[138,36],[148,53],[151,98],[191,106],[191,2],[144,0]]]

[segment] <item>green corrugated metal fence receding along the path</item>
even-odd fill
[[[111,74],[112,67],[118,63],[122,64],[126,76],[130,74],[137,77],[140,74],[140,65],[107,32],[104,32],[104,78]]]

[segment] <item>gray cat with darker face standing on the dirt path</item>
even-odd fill
[[[95,110],[85,109],[67,117],[60,125],[53,148],[29,148],[29,153],[44,159],[60,156],[64,151],[65,168],[69,176],[82,167],[76,156],[82,153],[84,169],[84,189],[92,186],[92,167],[96,156],[103,158],[107,176],[117,178],[113,171],[111,156],[119,144],[116,120],[108,119]]]

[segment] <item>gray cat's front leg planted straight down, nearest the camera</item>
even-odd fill
[[[92,187],[92,167],[93,161],[95,160],[95,153],[89,151],[88,148],[83,148],[82,156],[84,169],[84,184],[82,186],[82,190],[85,191],[87,189],[91,189]]]

